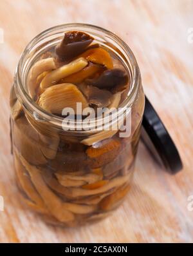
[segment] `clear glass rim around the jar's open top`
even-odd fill
[[[129,93],[127,94],[127,97],[125,98],[124,102],[120,104],[119,108],[127,108],[131,104],[133,104],[134,99],[136,98],[138,88],[140,86],[140,70],[138,68],[138,63],[136,61],[136,58],[134,57],[134,54],[129,48],[129,46],[115,33],[110,32],[109,30],[106,30],[105,28],[102,28],[100,26],[96,25],[90,25],[86,23],[66,23],[62,25],[53,26],[51,28],[48,28],[47,30],[42,31],[40,34],[35,36],[30,43],[27,44],[26,48],[24,49],[23,53],[21,54],[21,57],[19,59],[19,63],[17,64],[17,68],[15,70],[15,77],[14,77],[14,85],[15,85],[15,93],[17,94],[17,97],[21,104],[23,104],[24,109],[27,112],[30,112],[31,115],[37,120],[37,121],[47,121],[50,124],[53,124],[57,128],[62,127],[62,117],[58,117],[57,115],[53,115],[52,113],[46,112],[46,110],[42,109],[38,104],[33,101],[33,99],[30,97],[30,95],[26,92],[25,86],[23,83],[23,70],[25,68],[25,61],[28,59],[30,52],[32,51],[33,46],[35,46],[37,43],[39,43],[41,40],[45,39],[50,33],[57,32],[57,34],[64,33],[65,30],[81,30],[83,32],[87,32],[86,29],[94,30],[95,32],[102,32],[106,35],[108,35],[111,39],[113,39],[114,42],[118,43],[118,45],[124,50],[124,55],[127,55],[126,57],[129,59],[131,63],[131,68],[133,69],[133,79],[131,81],[131,90],[129,90]],[[88,32],[89,33],[89,32]],[[78,131],[78,133],[81,133],[82,131]],[[92,132],[92,131],[90,131]]]

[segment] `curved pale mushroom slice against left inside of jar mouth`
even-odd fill
[[[33,98],[35,96],[35,91],[38,84],[36,83],[37,77],[45,71],[51,71],[56,68],[54,59],[52,57],[41,59],[33,64],[30,69],[29,78],[28,78],[28,92]]]

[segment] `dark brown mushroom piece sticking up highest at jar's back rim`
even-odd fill
[[[55,52],[62,61],[69,61],[82,54],[92,41],[93,37],[84,32],[66,32],[62,41],[56,46]]]

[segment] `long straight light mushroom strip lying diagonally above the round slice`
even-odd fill
[[[45,89],[53,84],[57,84],[58,81],[67,77],[68,75],[74,74],[87,66],[87,61],[83,57],[71,61],[71,63],[61,66],[56,70],[53,70],[47,74],[41,82],[41,88]]]

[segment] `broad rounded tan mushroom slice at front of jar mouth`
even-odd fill
[[[82,103],[82,110],[87,108],[87,101],[75,84],[56,84],[47,88],[39,97],[38,104],[44,110],[62,114],[64,108],[73,108],[77,113],[77,103]]]

